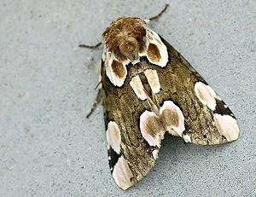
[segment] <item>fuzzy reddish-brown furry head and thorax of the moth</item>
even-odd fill
[[[103,32],[103,43],[118,61],[139,62],[145,48],[146,23],[137,17],[120,17]]]

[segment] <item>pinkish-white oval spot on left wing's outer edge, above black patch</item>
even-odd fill
[[[121,142],[120,130],[119,130],[119,126],[113,121],[110,121],[108,123],[107,142],[108,142],[108,149],[111,147],[117,154],[120,154],[120,142]]]

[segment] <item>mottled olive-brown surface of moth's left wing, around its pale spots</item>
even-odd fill
[[[119,127],[121,138],[119,153],[116,153],[111,147],[108,148],[109,167],[116,183],[124,189],[137,183],[150,171],[157,157],[157,154],[153,155],[153,153],[159,149],[157,146],[149,146],[140,132],[140,115],[147,109],[150,110],[150,107],[147,101],[140,101],[131,89],[129,83],[135,73],[134,67],[134,72],[128,72],[125,84],[117,89],[110,82],[104,67],[102,67],[102,105],[106,130],[108,130],[107,136],[111,130],[109,122],[115,122]],[[113,135],[109,136],[112,137]],[[115,177],[117,176],[115,171],[122,171],[121,168],[123,167],[122,165],[118,168],[115,166],[119,159],[121,159],[122,164],[126,162],[129,165],[129,168],[125,168],[121,174],[128,173],[130,179],[119,181]]]

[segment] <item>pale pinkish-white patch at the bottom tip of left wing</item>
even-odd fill
[[[118,162],[113,167],[112,173],[113,179],[115,183],[122,189],[130,188],[132,173],[129,165],[127,164],[126,160],[123,156],[119,157]]]

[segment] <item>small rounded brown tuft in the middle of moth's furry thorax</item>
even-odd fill
[[[132,64],[139,62],[139,44],[136,38],[126,38],[119,45],[120,52],[127,57]]]

